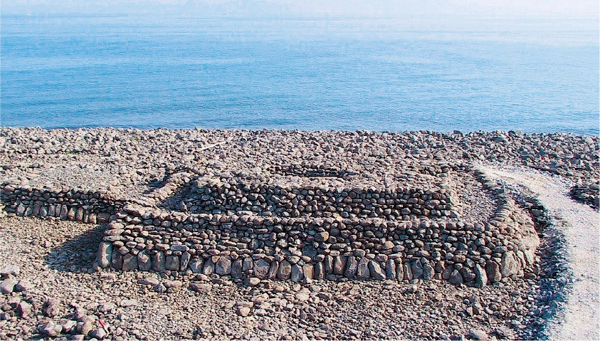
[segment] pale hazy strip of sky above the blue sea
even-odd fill
[[[224,13],[221,13],[224,12]],[[466,16],[600,17],[598,0],[0,0],[0,13],[186,14],[190,16]]]

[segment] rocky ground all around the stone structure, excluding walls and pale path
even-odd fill
[[[447,180],[452,168],[463,217],[476,220],[495,205],[473,172],[461,170],[476,162],[560,175],[576,184],[575,198],[598,206],[598,137],[0,128],[0,183],[103,189],[120,199],[151,193],[181,170],[387,187]],[[554,278],[564,280],[563,258],[549,252],[556,243],[545,235],[537,274],[479,289],[437,280],[242,284],[97,271],[101,236],[94,224],[1,214],[0,340],[537,340],[558,295]]]

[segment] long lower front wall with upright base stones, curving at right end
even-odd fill
[[[127,205],[100,244],[99,265],[232,278],[411,280],[482,286],[522,276],[539,243],[505,199],[485,224],[173,214]]]

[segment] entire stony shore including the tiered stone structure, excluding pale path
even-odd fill
[[[0,338],[546,340],[566,251],[479,164],[600,200],[596,137],[1,128]]]

